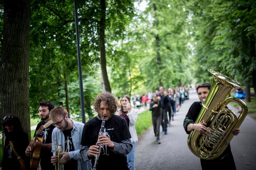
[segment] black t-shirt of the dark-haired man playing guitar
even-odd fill
[[[34,137],[36,136],[37,130],[44,125],[46,122],[45,121],[41,121],[37,124],[37,128],[34,134]],[[43,138],[43,143],[44,144],[50,144],[52,143],[52,131],[55,128],[55,126],[50,125],[47,128],[45,128],[44,130],[42,130],[42,135],[39,134],[38,137]],[[41,164],[41,168],[42,170],[49,170],[49,169],[55,169],[55,167],[53,166],[53,164],[51,163],[51,157],[52,157],[52,151],[51,149],[47,149],[47,148],[42,148],[41,152],[40,152],[40,164]]]

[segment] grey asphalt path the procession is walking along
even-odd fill
[[[137,170],[189,170],[201,169],[200,159],[189,150],[183,120],[194,101],[198,101],[197,94],[190,92],[190,99],[186,100],[179,112],[171,121],[167,135],[160,132],[161,144],[155,144],[153,126],[139,137],[135,149],[135,168]],[[228,105],[235,113],[236,108]],[[161,128],[160,128],[161,129]],[[256,169],[256,121],[247,116],[240,126],[240,133],[230,142],[231,151],[234,156],[238,170]]]

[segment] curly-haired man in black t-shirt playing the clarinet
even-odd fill
[[[115,115],[117,111],[116,99],[109,93],[98,94],[94,104],[98,115],[86,122],[81,139],[80,154],[84,161],[91,160],[92,166],[95,156],[101,153],[96,163],[100,169],[129,169],[126,155],[131,151],[131,135],[125,118]],[[103,135],[99,136],[102,118],[106,117]],[[102,147],[98,147],[96,143]]]

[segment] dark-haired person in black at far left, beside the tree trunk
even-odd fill
[[[11,144],[23,160],[23,165],[25,165],[26,170],[30,169],[30,158],[25,155],[25,150],[29,144],[28,135],[23,131],[20,119],[14,115],[7,115],[3,117],[2,126],[6,136],[1,163],[2,170],[22,169],[21,163],[17,159]]]

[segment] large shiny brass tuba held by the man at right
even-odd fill
[[[194,155],[210,160],[224,152],[234,136],[231,131],[239,128],[248,109],[246,104],[238,98],[226,99],[235,88],[245,89],[243,85],[219,72],[210,69],[208,71],[212,74],[213,81],[195,123],[206,123],[211,132],[209,136],[204,136],[198,131],[191,131],[187,142]],[[225,108],[229,102],[238,103],[242,107],[239,117],[232,110]]]

